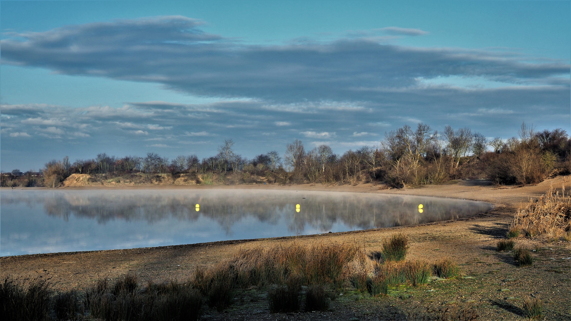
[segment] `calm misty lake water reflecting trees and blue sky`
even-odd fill
[[[491,209],[432,197],[239,189],[3,190],[0,207],[0,256],[320,234]]]

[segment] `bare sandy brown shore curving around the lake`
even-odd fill
[[[465,277],[419,289],[407,288],[411,295],[406,296],[407,298],[403,296],[403,298],[361,299],[357,302],[357,299],[349,299],[347,294],[345,295],[347,298],[343,297],[345,299],[337,299],[333,302],[332,310],[323,312],[323,315],[307,314],[297,318],[384,320],[385,318],[380,314],[384,313],[383,311],[389,311],[387,309],[399,311],[411,311],[415,307],[428,309],[460,298],[464,301],[470,299],[478,307],[481,320],[521,320],[522,300],[530,297],[531,293],[540,292],[545,304],[547,319],[569,320],[571,319],[571,259],[565,259],[571,257],[569,242],[518,238],[517,246],[537,249],[533,254],[535,261],[531,267],[518,267],[511,254],[496,251],[498,238],[505,237],[507,225],[513,220],[513,214],[520,204],[527,202],[530,197],[536,198],[545,193],[551,185],[561,189],[565,181],[566,189],[571,189],[569,184],[571,176],[552,178],[534,186],[509,188],[478,180],[451,181],[443,185],[389,190],[379,190],[379,186],[372,184],[211,186],[212,188],[337,190],[452,197],[491,202],[495,208],[491,212],[462,220],[389,229],[307,235],[295,238],[3,257],[0,260],[0,275],[23,278],[43,277],[49,279],[59,289],[86,289],[93,285],[96,279],[114,280],[126,273],[134,273],[142,280],[178,279],[183,281],[191,277],[197,265],[213,265],[244,248],[267,247],[284,241],[296,241],[301,243],[351,242],[365,246],[367,250],[379,250],[384,238],[400,231],[407,234],[411,241],[407,258],[433,262],[443,256],[448,256],[460,264]],[[88,185],[78,189],[111,188],[110,186],[98,186]],[[156,187],[208,188],[210,186]],[[132,186],[131,188],[149,188],[149,186]],[[238,296],[240,295],[242,294]],[[234,312],[230,314],[217,314],[209,311],[203,319],[240,320],[242,318],[243,320],[243,315],[255,315],[257,320],[288,317],[287,315],[269,314],[267,307],[263,304],[252,307],[246,304],[242,307],[236,306],[235,309],[238,310],[232,310]],[[392,318],[388,319],[392,320]]]

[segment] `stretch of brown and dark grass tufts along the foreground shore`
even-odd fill
[[[371,258],[354,244],[293,242],[241,250],[210,268],[197,267],[194,277],[182,283],[141,285],[127,274],[115,283],[99,279],[85,292],[54,292],[46,281],[6,278],[0,285],[0,312],[10,320],[197,320],[207,306],[225,310],[234,303],[236,292],[244,290],[266,293],[271,312],[326,311],[343,292],[385,296],[395,287],[419,287],[432,274],[433,278],[459,275],[456,263],[447,258],[432,265],[405,261],[407,237],[403,234],[392,235],[384,247],[404,255],[385,261],[387,257]],[[451,312],[477,315],[469,306],[463,311],[431,313],[438,320]]]

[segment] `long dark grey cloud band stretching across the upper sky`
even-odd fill
[[[569,64],[530,63],[497,50],[403,47],[364,38],[247,46],[208,34],[199,28],[201,23],[182,16],[151,17],[21,33],[1,41],[2,61],[275,104],[382,101],[421,89],[421,80],[451,76],[569,88]],[[401,27],[380,30],[426,33]],[[168,103],[154,107],[172,108]]]

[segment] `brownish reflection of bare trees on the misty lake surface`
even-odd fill
[[[303,199],[302,197],[306,197]],[[195,204],[200,204],[196,212]],[[295,205],[301,205],[299,213]],[[418,212],[418,205],[424,212]],[[253,217],[303,233],[307,226],[328,231],[336,223],[348,229],[370,229],[450,220],[489,210],[489,204],[430,197],[383,196],[368,193],[289,191],[114,191],[114,193],[63,192],[44,198],[50,216],[92,218],[100,224],[110,220],[149,223],[176,218],[196,221],[200,216],[218,222],[229,233],[236,222]]]

